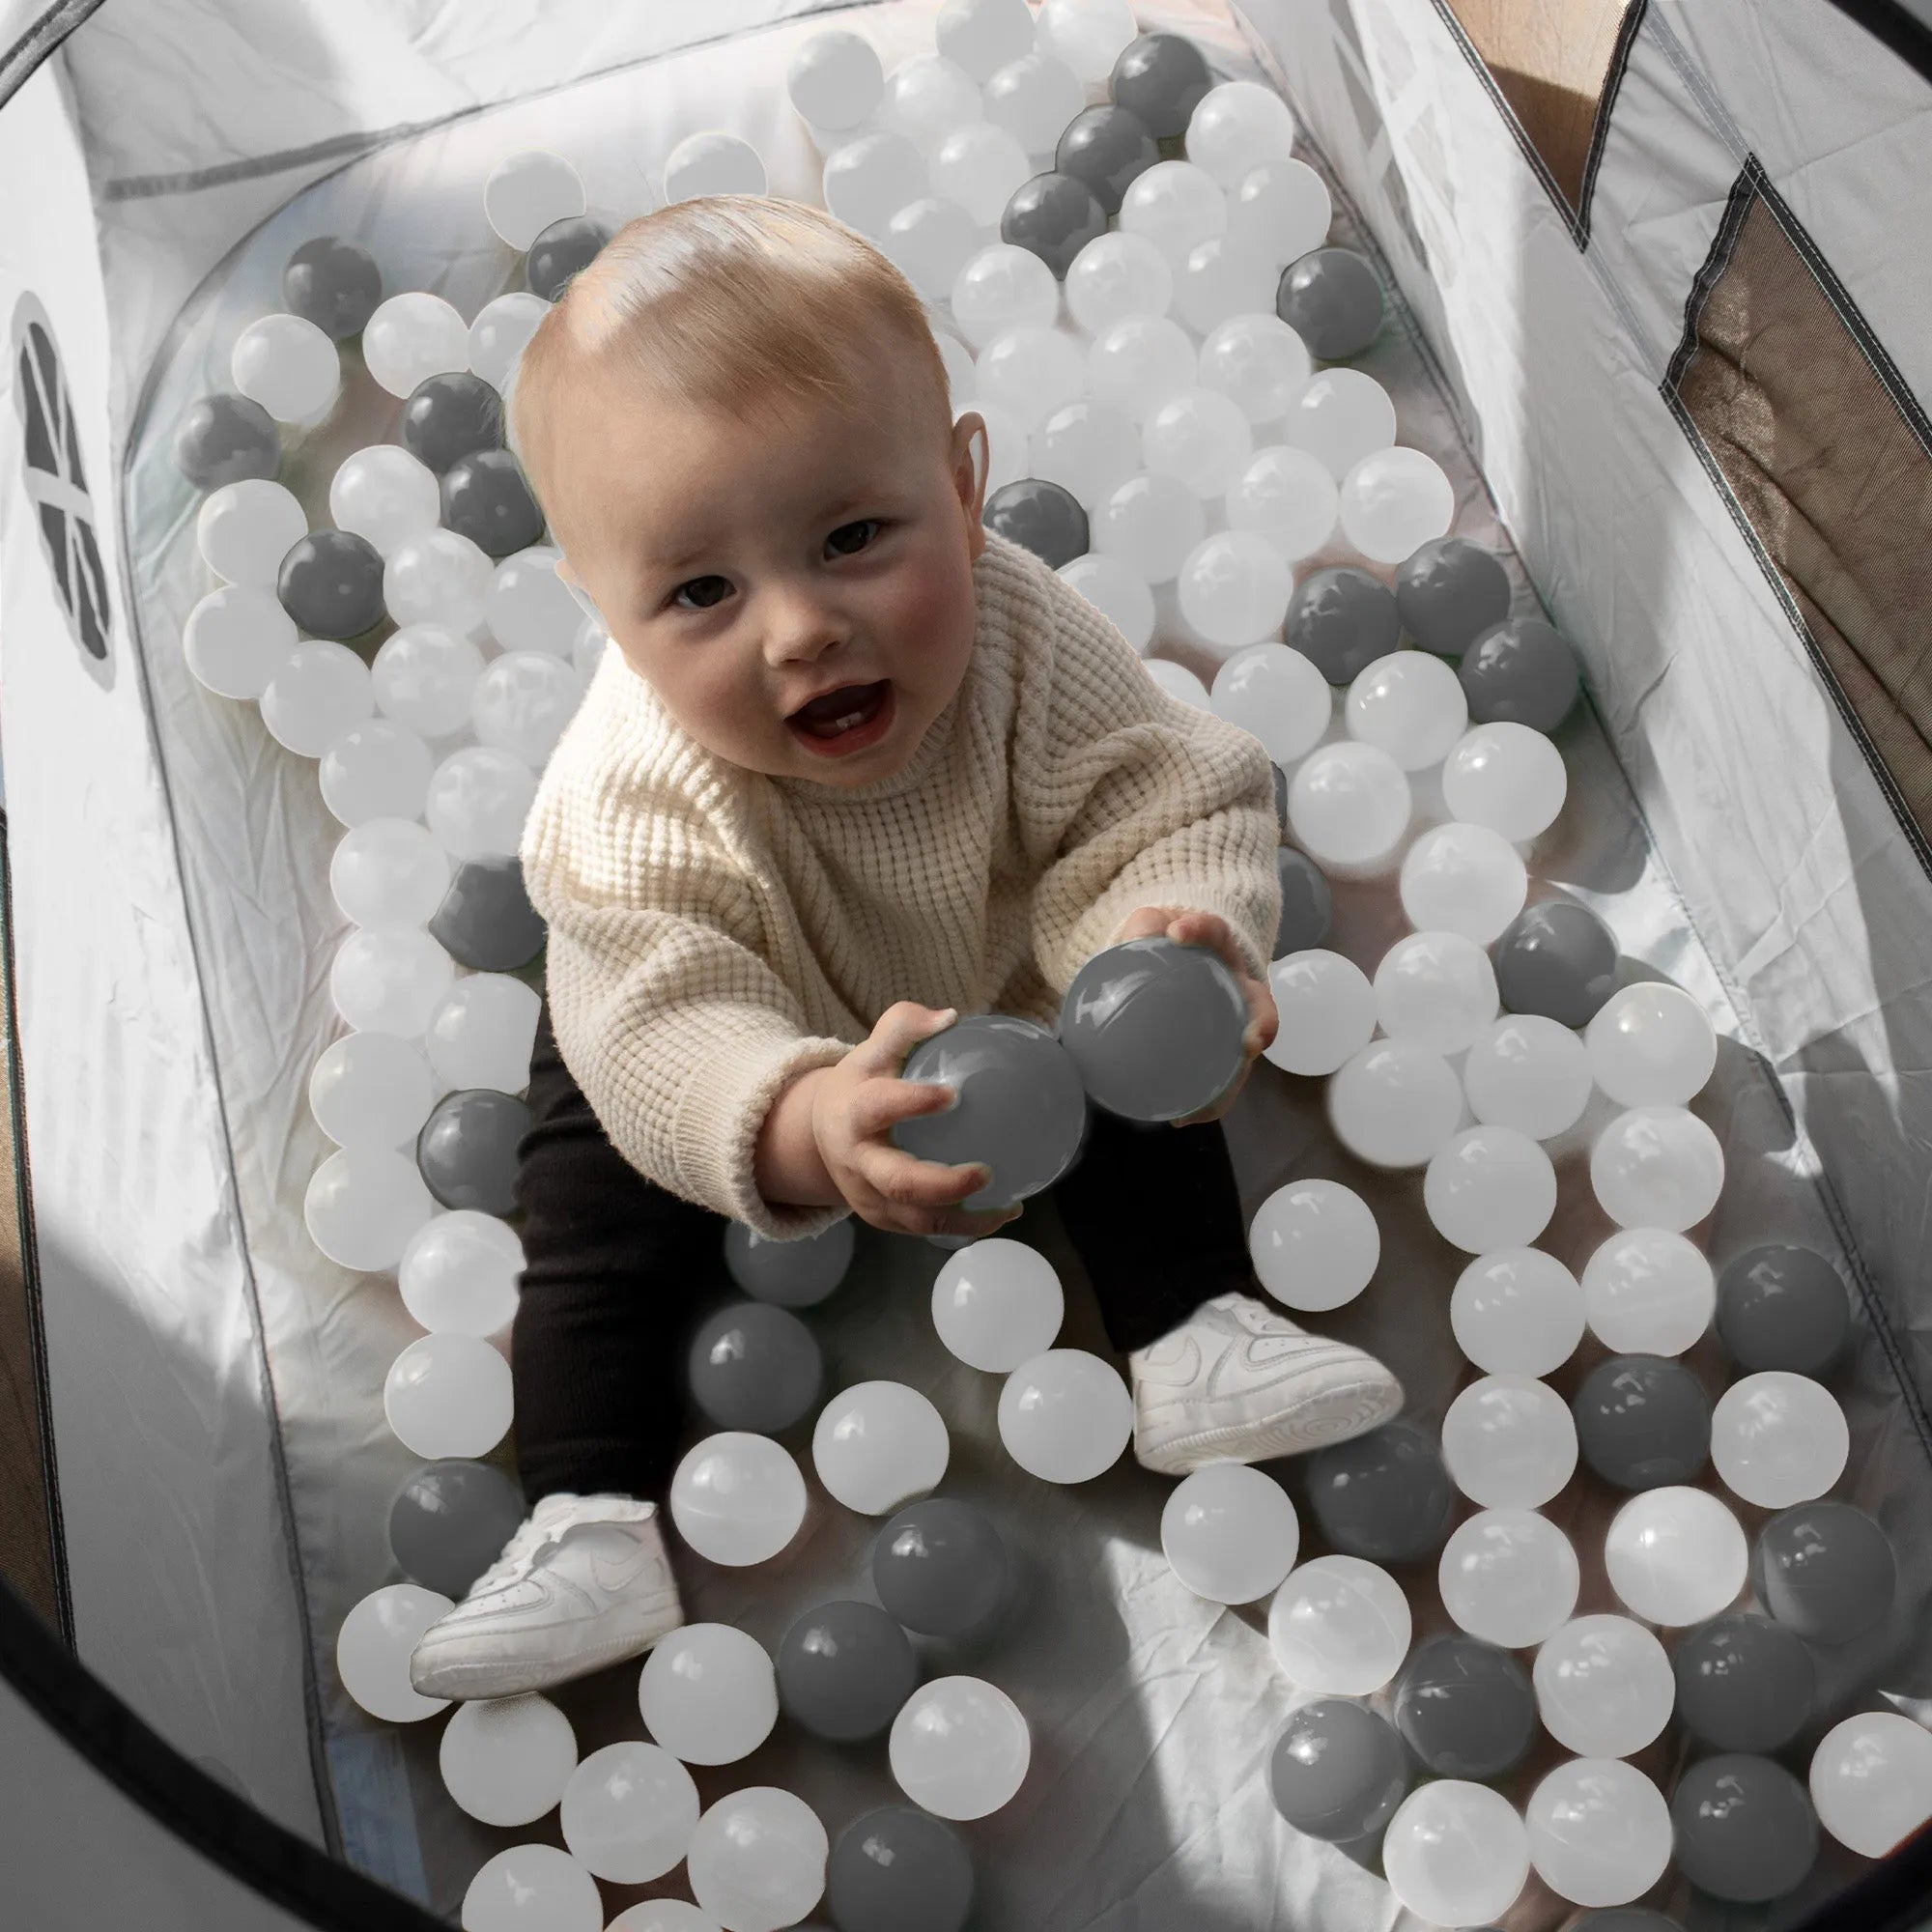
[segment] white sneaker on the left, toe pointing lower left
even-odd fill
[[[543,1497],[410,1652],[423,1696],[520,1696],[641,1656],[684,1623],[657,1505]]]

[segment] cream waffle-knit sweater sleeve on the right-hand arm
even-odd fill
[[[1047,701],[1020,707],[1014,796],[1051,854],[1034,958],[1057,991],[1138,906],[1219,914],[1248,972],[1267,978],[1281,923],[1267,750],[1155,684],[1084,599],[1057,626]]]

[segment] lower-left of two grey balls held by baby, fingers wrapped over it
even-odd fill
[[[1086,1150],[1088,1105],[1080,1066],[1032,1020],[976,1012],[922,1039],[900,1070],[916,1086],[951,1086],[943,1113],[895,1121],[895,1148],[943,1167],[983,1161],[991,1179],[958,1206],[966,1213],[1012,1208],[1053,1186]]]

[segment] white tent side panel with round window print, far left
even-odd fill
[[[0,728],[73,1634],[81,1660],[156,1731],[319,1835],[280,1449],[168,775],[129,655],[104,408],[118,342],[58,62],[0,114],[0,178],[35,180],[0,230],[0,321],[43,321],[58,415],[81,458],[62,475],[27,466],[10,355]],[[110,585],[104,663],[60,597],[41,497],[95,531]]]

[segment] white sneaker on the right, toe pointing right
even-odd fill
[[[1304,1455],[1403,1406],[1403,1385],[1372,1354],[1308,1335],[1252,1294],[1217,1294],[1126,1364],[1134,1461],[1163,1476]]]

